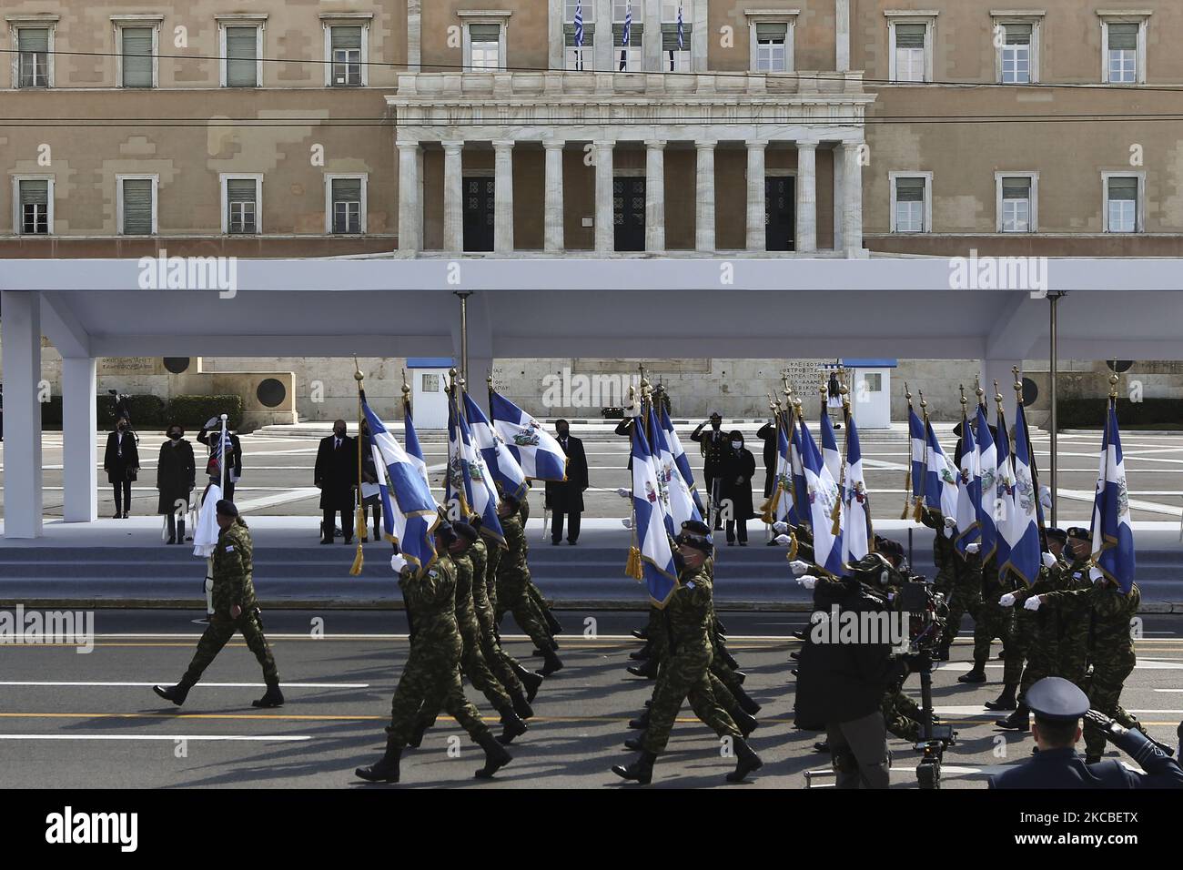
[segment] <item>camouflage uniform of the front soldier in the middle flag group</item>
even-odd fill
[[[679,585],[662,612],[671,649],[658,675],[649,726],[641,739],[646,752],[660,754],[670,740],[678,710],[691,696],[696,715],[720,737],[741,737],[735,721],[711,691],[711,575],[706,566],[679,572]]]

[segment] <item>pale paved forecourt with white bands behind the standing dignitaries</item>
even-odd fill
[[[683,443],[690,452],[691,466],[702,485],[702,457],[693,449],[689,432],[692,426],[679,426]],[[763,501],[764,469],[761,455],[762,442],[755,438],[755,426],[746,426],[748,447],[756,456],[757,472],[754,504]],[[950,453],[955,439],[949,434],[951,426],[939,424],[938,436]],[[583,434],[575,432],[575,434]],[[46,517],[62,516],[62,433],[46,432],[43,436],[44,452],[44,505]],[[1048,436],[1033,433],[1039,468],[1047,479],[1049,464]],[[155,515],[155,463],[163,437],[159,433],[141,436],[140,452],[143,472],[132,488],[131,513],[137,516]],[[237,489],[235,501],[256,516],[318,514],[318,491],[312,486],[312,465],[316,459],[315,437],[270,437],[248,434],[243,437],[244,476]],[[99,446],[105,444],[105,434]],[[584,437],[584,446],[590,466],[592,488],[584,494],[587,517],[622,517],[627,504],[616,496],[618,486],[628,485],[627,440],[608,434]],[[0,444],[0,470],[2,470],[4,445]],[[199,456],[203,447],[195,445]],[[1097,457],[1100,433],[1061,434],[1059,444],[1059,521],[1061,524],[1087,522],[1092,494],[1097,482]],[[1126,476],[1130,486],[1133,520],[1178,521],[1183,514],[1183,436],[1162,432],[1127,432],[1123,439]],[[441,484],[446,445],[438,439],[425,438],[425,452],[429,465],[437,466],[433,483]],[[862,437],[864,464],[867,486],[871,491],[873,515],[877,518],[898,518],[903,507],[904,457],[906,440],[900,433],[865,433]],[[102,464],[102,457],[96,463]],[[106,477],[99,470],[98,515],[111,516],[114,497]],[[438,490],[442,498],[442,489]],[[541,496],[535,496],[541,513]],[[2,515],[0,505],[0,515]],[[763,527],[752,521],[752,534],[763,534]]]

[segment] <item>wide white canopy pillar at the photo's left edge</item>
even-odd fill
[[[0,292],[4,354],[5,537],[41,536],[41,299],[35,292]],[[93,401],[93,397],[91,397]]]

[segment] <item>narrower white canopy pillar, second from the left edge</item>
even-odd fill
[[[93,356],[62,360],[62,468],[64,517],[89,523],[98,518],[98,393]]]

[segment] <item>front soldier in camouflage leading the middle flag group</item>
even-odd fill
[[[641,756],[627,767],[618,765],[613,773],[647,785],[653,778],[653,762],[670,739],[678,710],[690,694],[697,694],[704,721],[720,737],[730,737],[736,753],[736,769],[728,774],[729,782],[742,782],[763,762],[744,740],[739,728],[715,701],[707,676],[711,658],[711,578],[704,563],[712,553],[706,537],[681,533],[678,544],[678,586],[666,602],[671,649],[666,664],[658,676],[651,708],[649,727],[642,739]]]

